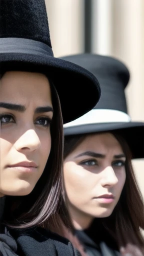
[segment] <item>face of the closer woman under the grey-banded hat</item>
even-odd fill
[[[5,72],[0,81],[0,193],[26,195],[51,148],[50,85],[41,73]]]

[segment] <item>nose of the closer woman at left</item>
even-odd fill
[[[26,130],[15,142],[17,151],[35,151],[40,147],[40,140],[34,129]]]

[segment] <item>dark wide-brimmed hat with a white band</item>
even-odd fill
[[[96,75],[101,97],[97,105],[76,120],[64,124],[64,135],[102,131],[118,131],[127,141],[133,158],[144,157],[144,122],[131,121],[127,114],[124,89],[129,71],[119,60],[96,54],[78,54],[62,57]]]

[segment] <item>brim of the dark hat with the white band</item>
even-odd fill
[[[128,143],[132,158],[144,157],[144,122],[90,123],[64,128],[64,135],[117,131]]]

